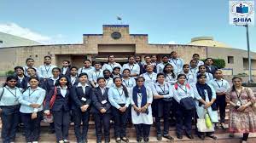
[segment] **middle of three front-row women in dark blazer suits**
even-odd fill
[[[81,73],[79,75],[78,85],[72,88],[72,113],[74,122],[74,131],[78,143],[87,143],[87,132],[90,118],[90,102],[91,102],[91,87],[87,83],[88,75]],[[81,122],[82,132],[81,132]]]

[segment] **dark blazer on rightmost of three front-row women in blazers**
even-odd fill
[[[102,95],[102,90],[99,87],[94,89],[92,92],[91,100],[92,100],[91,112],[101,113],[100,110],[102,108],[105,108],[105,110],[107,110],[106,113],[111,112],[110,110],[111,104],[108,101],[108,88],[105,89],[105,92],[103,95]],[[107,100],[107,103],[102,104],[103,100]]]

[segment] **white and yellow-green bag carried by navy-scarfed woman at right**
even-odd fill
[[[207,114],[208,113],[206,112],[206,114],[204,116],[205,118],[197,119],[196,127],[199,132],[214,132],[214,123],[212,123],[210,121],[210,117],[209,117],[209,115],[207,117]],[[209,121],[212,123],[211,127],[210,127],[210,124],[208,123]]]

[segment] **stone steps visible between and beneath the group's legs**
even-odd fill
[[[254,93],[256,94],[256,93]],[[226,117],[225,117],[226,123],[229,122],[229,106],[226,108]],[[228,127],[228,124],[226,124]],[[0,128],[2,127],[2,124],[0,124]],[[126,129],[127,132],[127,137],[129,138],[130,142],[137,142],[136,141],[136,132],[133,127],[133,125],[129,124]],[[197,137],[195,134],[195,124],[193,125],[193,134],[195,139],[190,140],[187,138],[185,135],[183,135],[183,139],[179,140],[176,137],[176,128],[175,126],[170,127],[169,134],[174,137],[174,141],[166,140],[163,138],[163,140],[159,141],[156,140],[156,131],[154,129],[154,124],[152,125],[150,129],[150,137],[149,137],[149,142],[185,142],[185,143],[239,143],[241,142],[241,136],[242,134],[235,134],[234,138],[229,137],[228,129],[216,129],[215,130],[215,135],[218,137],[218,140],[212,140],[211,138],[206,138],[205,140],[201,140]],[[111,124],[111,130],[110,130],[110,135],[111,135],[111,142],[115,142],[113,138],[113,123]],[[76,142],[76,137],[74,134],[74,129],[73,129],[73,123],[71,123],[70,129],[69,129],[69,140],[74,143]],[[2,139],[0,139],[2,142]],[[90,127],[88,131],[88,141],[89,143],[95,143],[96,142],[96,134],[95,134],[95,124],[92,119],[90,119]],[[102,140],[103,141],[103,140]],[[25,137],[19,132],[16,135],[16,141],[15,142],[26,142]],[[48,123],[41,123],[41,135],[40,135],[40,140],[39,142],[44,142],[44,143],[54,143],[55,142],[55,134],[49,134],[49,124]],[[247,140],[248,143],[256,143],[256,133],[250,134],[249,139]]]

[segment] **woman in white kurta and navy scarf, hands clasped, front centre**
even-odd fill
[[[137,142],[148,142],[150,126],[153,124],[153,94],[144,86],[144,77],[137,77],[137,85],[131,90],[131,119],[135,126]]]

